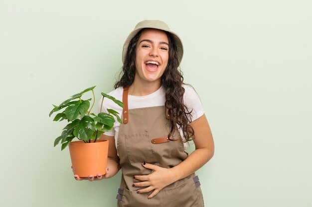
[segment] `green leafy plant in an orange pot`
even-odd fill
[[[101,111],[98,115],[91,113],[95,103],[95,86],[87,88],[80,93],[72,95],[69,99],[63,101],[60,105],[53,105],[49,117],[57,111],[53,121],[66,120],[68,124],[62,131],[62,134],[54,140],[54,146],[61,143],[61,150],[69,145],[69,152],[72,161],[72,168],[75,175],[79,177],[88,177],[89,175],[106,174],[108,140],[99,140],[98,138],[107,131],[110,131],[115,123],[115,118],[121,122],[119,113],[113,109],[107,109],[108,113],[102,112],[104,97],[111,99],[120,107],[124,104],[114,97],[102,94]],[[83,100],[82,95],[92,91],[93,103],[90,107],[92,98]],[[72,141],[78,138],[77,141]]]

